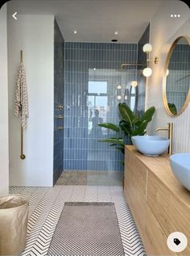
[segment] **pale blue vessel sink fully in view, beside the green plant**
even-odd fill
[[[132,136],[131,140],[138,151],[148,156],[159,156],[170,144],[170,140],[161,136]]]

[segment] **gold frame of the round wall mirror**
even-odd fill
[[[167,111],[167,114],[171,115],[171,116],[178,116],[181,115],[184,110],[186,109],[186,107],[188,107],[188,103],[190,102],[190,88],[188,89],[188,95],[185,99],[184,105],[183,107],[181,107],[179,113],[177,113],[176,115],[174,115],[173,113],[171,113],[168,105],[167,105],[167,93],[166,93],[166,86],[167,86],[167,66],[169,64],[170,58],[171,58],[171,53],[173,52],[173,49],[175,48],[176,44],[179,42],[179,40],[181,38],[185,38],[188,41],[188,44],[190,44],[190,38],[188,36],[179,36],[178,38],[176,38],[176,40],[173,42],[173,44],[171,44],[171,48],[169,49],[169,52],[167,53],[167,59],[165,62],[165,66],[164,66],[164,74],[163,74],[163,105]]]

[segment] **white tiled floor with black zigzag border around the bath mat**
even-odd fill
[[[64,202],[69,201],[114,202],[125,255],[146,255],[122,187],[10,187],[10,193],[27,195],[30,201],[27,246],[21,255],[47,255]]]

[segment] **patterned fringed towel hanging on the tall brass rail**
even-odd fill
[[[26,81],[25,69],[23,67],[22,62],[20,62],[19,64],[17,80],[16,80],[14,114],[16,116],[21,115],[21,125],[23,128],[27,128],[27,117],[28,117],[27,81]]]

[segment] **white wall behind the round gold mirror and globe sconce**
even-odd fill
[[[171,19],[171,14],[180,14],[180,18]],[[166,127],[168,122],[174,123],[173,153],[190,152],[190,105],[180,116],[171,117],[167,114],[163,107],[163,67],[172,42],[178,36],[190,36],[189,18],[189,8],[184,2],[164,1],[151,20],[151,58],[158,56],[159,64],[151,63],[153,74],[147,78],[147,107],[156,108],[148,133],[154,134],[155,128]],[[158,134],[167,136],[167,132]]]

